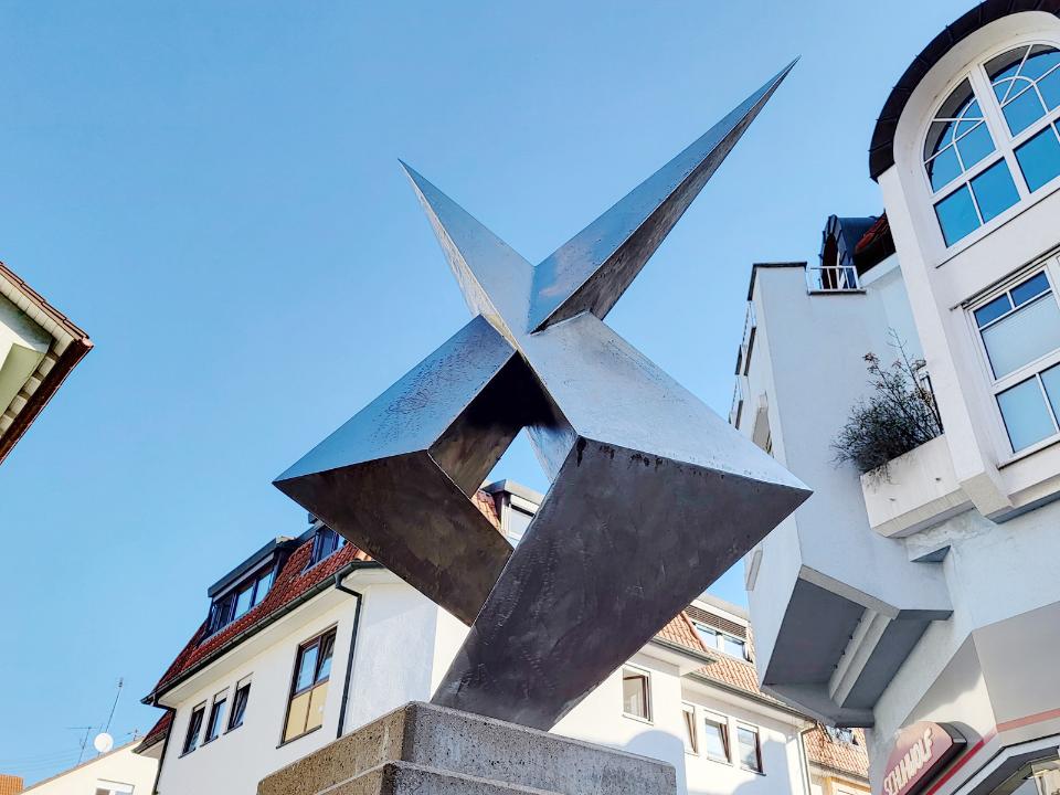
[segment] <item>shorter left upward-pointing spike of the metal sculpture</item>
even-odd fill
[[[431,221],[467,306],[511,339],[509,322],[527,314],[533,266],[415,169],[403,160],[399,162]]]

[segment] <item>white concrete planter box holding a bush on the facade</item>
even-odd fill
[[[869,524],[888,538],[910,536],[972,507],[944,435],[892,460],[886,476],[862,475],[861,491]]]

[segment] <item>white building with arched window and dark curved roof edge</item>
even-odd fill
[[[940,33],[877,123],[886,219],[751,278],[731,421],[815,490],[746,559],[759,674],[870,728],[877,793],[1060,787],[1058,14],[984,2]],[[859,476],[831,442],[895,336],[942,433]],[[933,725],[946,757],[905,742]]]

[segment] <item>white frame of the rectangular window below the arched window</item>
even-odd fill
[[[977,298],[974,304],[968,305],[967,308],[968,327],[972,335],[976,339],[976,349],[978,350],[979,370],[985,379],[985,383],[988,384],[989,398],[990,402],[993,403],[990,411],[992,416],[995,418],[996,425],[996,433],[994,435],[997,437],[999,449],[1003,453],[1001,460],[999,462],[1000,464],[1007,463],[1006,459],[1022,458],[1031,453],[1037,453],[1043,447],[1048,447],[1060,441],[1060,417],[1056,416],[1052,405],[1049,402],[1049,396],[1046,394],[1045,388],[1041,383],[1041,373],[1054,364],[1060,364],[1060,348],[1057,348],[1056,350],[1028,362],[1018,370],[1003,375],[1001,378],[995,378],[994,367],[990,363],[990,357],[986,350],[986,341],[983,339],[983,332],[975,320],[975,311],[977,309],[982,309],[995,298],[999,298],[1014,287],[1027,282],[1030,278],[1034,278],[1039,273],[1046,274],[1046,278],[1049,280],[1049,290],[1052,294],[1052,299],[1060,305],[1060,294],[1057,292],[1058,286],[1060,286],[1060,263],[1058,263],[1057,257],[1053,256],[1047,259],[1045,263],[1039,263],[1034,267],[1021,269],[1018,274],[1009,276],[996,288],[985,294],[983,297]],[[1016,451],[1013,446],[1011,437],[1008,434],[1008,427],[1005,424],[1005,416],[1001,414],[1001,406],[997,402],[997,396],[1001,392],[1005,392],[1006,390],[1009,390],[1030,378],[1035,378],[1038,381],[1038,388],[1041,390],[1041,396],[1046,402],[1046,409],[1049,412],[1049,415],[1052,416],[1054,431],[1046,438],[1024,447],[1022,449]]]

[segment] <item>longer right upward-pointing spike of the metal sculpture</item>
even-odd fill
[[[795,63],[534,268],[530,331],[611,311]]]

